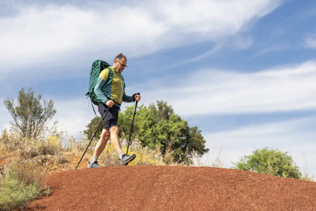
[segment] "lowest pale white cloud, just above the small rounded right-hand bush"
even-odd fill
[[[222,132],[203,134],[207,141],[206,147],[215,152],[221,151],[220,159],[225,158],[224,167],[233,166],[231,161],[237,162],[244,155],[250,155],[255,149],[266,146],[288,152],[301,171],[316,174],[316,132],[305,129],[316,123],[316,116],[294,119],[290,121],[279,121],[260,125],[249,125],[242,128]],[[305,163],[305,158],[307,166]],[[206,156],[203,158],[206,162]],[[213,156],[214,160],[214,156]]]

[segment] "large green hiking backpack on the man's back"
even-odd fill
[[[99,102],[101,101],[97,98],[96,94],[94,93],[94,87],[95,87],[95,84],[97,83],[100,72],[109,66],[111,65],[109,65],[107,62],[98,59],[92,63],[91,71],[89,72],[90,73],[89,91],[86,93],[86,96],[87,98],[90,97],[91,104],[93,103],[96,106],[99,105]],[[110,79],[112,79],[112,75],[113,75],[113,72],[109,71],[109,77],[106,80],[106,84],[110,81]],[[92,105],[92,108],[93,108],[93,105]],[[95,114],[95,111],[94,111],[94,114]]]

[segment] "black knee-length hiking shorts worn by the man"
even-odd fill
[[[107,108],[109,111],[106,113]],[[106,104],[100,104],[98,106],[99,113],[101,117],[106,113],[103,120],[103,128],[109,129],[110,127],[118,125],[117,121],[119,118],[119,107],[113,105],[112,108],[108,107]]]

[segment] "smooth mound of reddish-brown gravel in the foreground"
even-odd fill
[[[316,182],[212,167],[112,166],[52,173],[27,210],[316,210]]]

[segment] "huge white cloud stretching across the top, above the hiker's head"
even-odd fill
[[[112,58],[123,51],[131,57],[203,40],[220,42],[273,11],[279,1],[139,1],[119,9],[116,3],[90,5],[23,5],[17,16],[0,19],[1,71],[78,59],[83,52]],[[240,47],[251,44],[238,39]],[[19,62],[13,62],[16,58]]]

